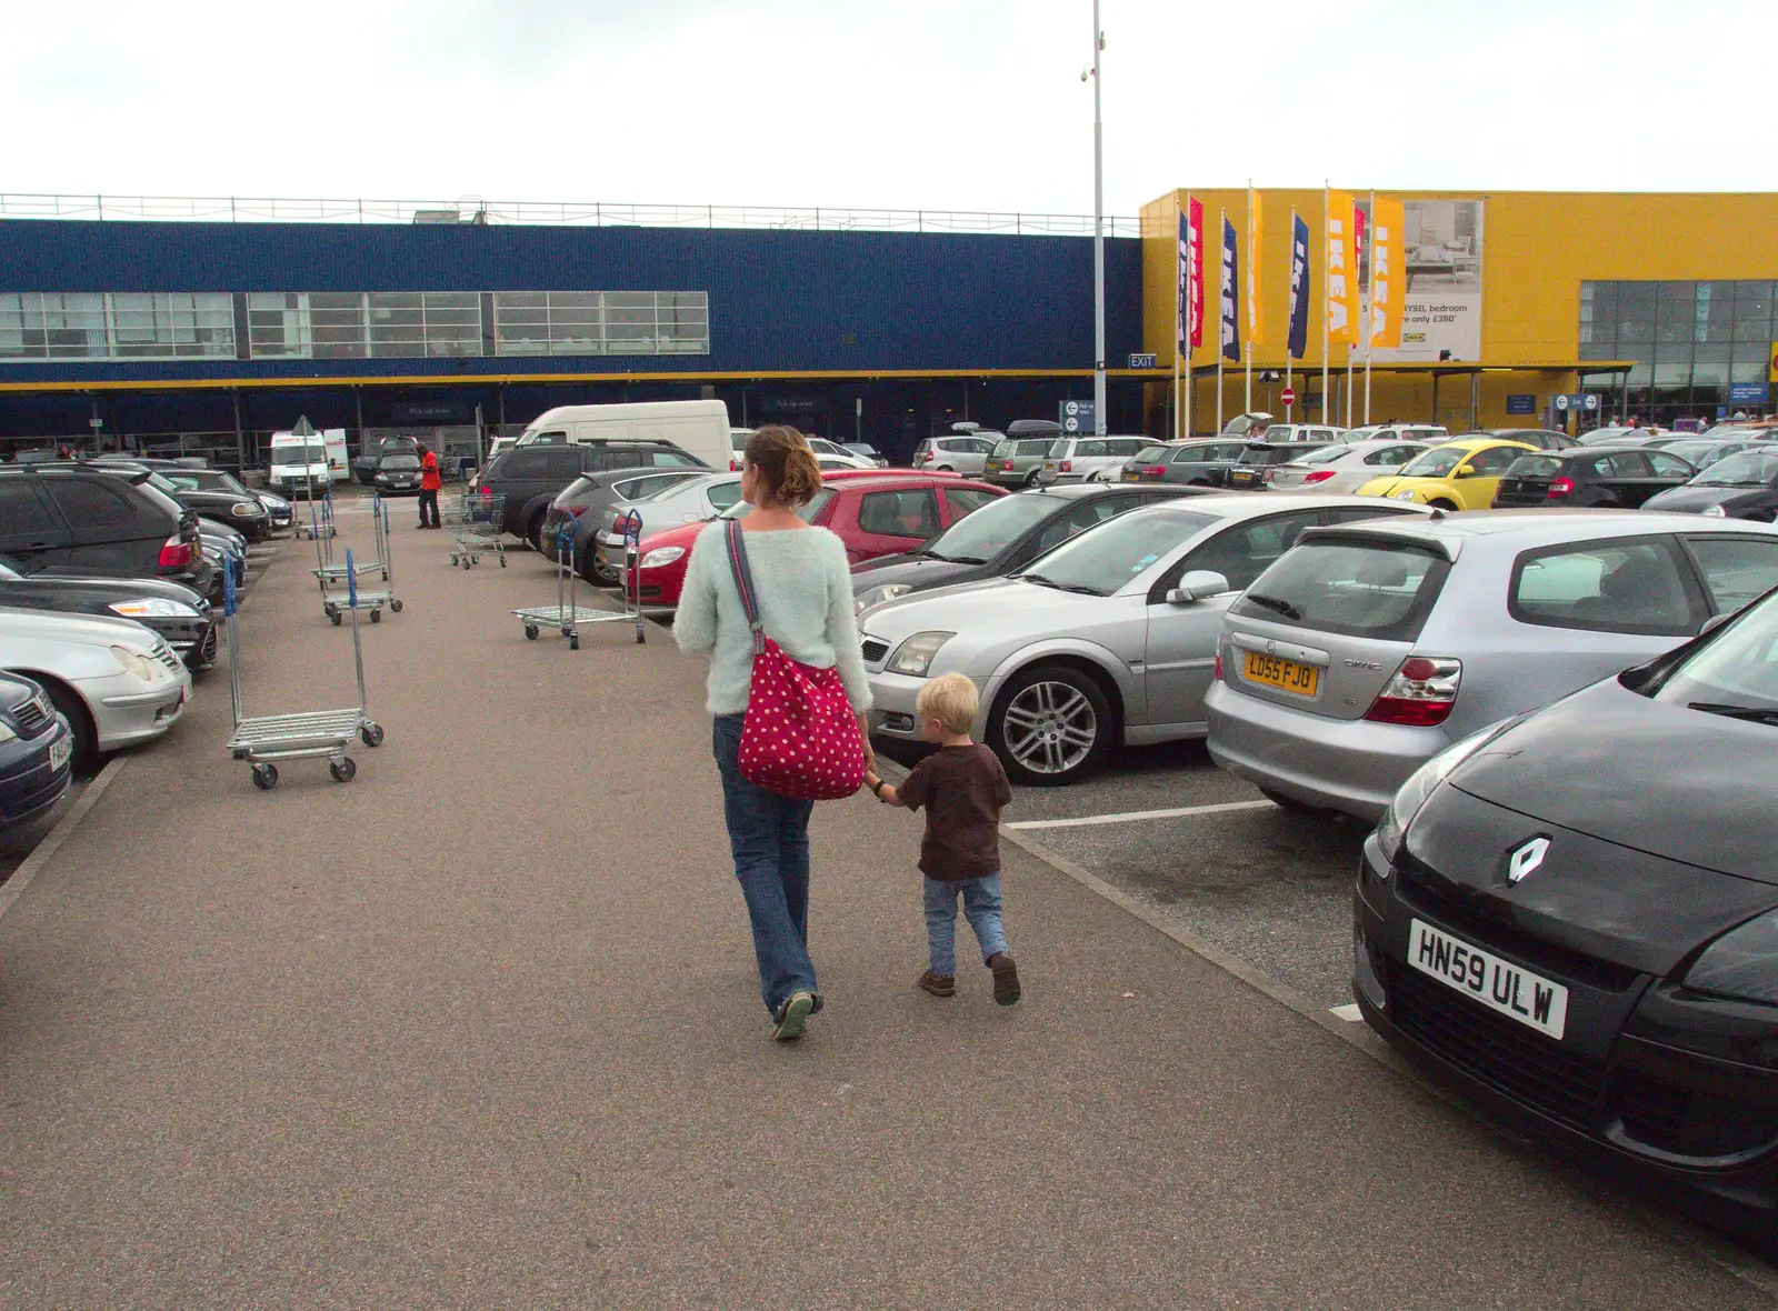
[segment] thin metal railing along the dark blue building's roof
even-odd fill
[[[338,201],[263,195],[53,195],[0,192],[0,218],[277,224],[542,224],[569,227],[775,227],[859,233],[1092,236],[1092,215],[989,210],[832,210],[827,206],[606,204],[601,201]],[[1141,220],[1106,215],[1106,236],[1141,236]]]

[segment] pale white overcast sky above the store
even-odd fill
[[[1774,14],[1102,0],[1106,210],[1769,190]],[[1090,0],[0,0],[0,30],[5,192],[1092,211]]]

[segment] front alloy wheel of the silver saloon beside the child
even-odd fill
[[[1021,783],[1060,787],[1092,775],[1111,746],[1111,703],[1067,664],[1015,675],[989,718],[989,746]]]

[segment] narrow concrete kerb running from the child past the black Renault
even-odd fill
[[[882,757],[878,757],[877,760],[877,773],[896,783],[907,778],[907,769]],[[1385,1069],[1390,1069],[1401,1078],[1410,1080],[1415,1087],[1424,1089],[1426,1092],[1438,1098],[1446,1105],[1463,1110],[1467,1114],[1476,1114],[1462,1098],[1454,1096],[1446,1087],[1421,1075],[1419,1069],[1410,1066],[1401,1055],[1396,1053],[1394,1048],[1390,1048],[1383,1039],[1373,1034],[1371,1029],[1366,1027],[1364,1023],[1353,1023],[1351,1020],[1337,1018],[1325,1007],[1316,1005],[1312,1000],[1309,1000],[1303,993],[1296,991],[1294,988],[1278,982],[1264,970],[1255,968],[1248,961],[1243,961],[1239,956],[1225,952],[1223,949],[1216,947],[1211,942],[1205,942],[1198,934],[1189,933],[1188,929],[1181,929],[1177,924],[1170,924],[1166,917],[1161,915],[1159,911],[1143,906],[1140,901],[1111,886],[1097,874],[1092,874],[1081,865],[1076,865],[1067,856],[1051,851],[1042,842],[1026,837],[1022,831],[1012,830],[1003,824],[1001,837],[1012,842],[1021,851],[1024,851],[1033,860],[1049,865],[1060,874],[1067,874],[1083,888],[1088,888],[1099,897],[1109,901],[1113,906],[1118,906],[1120,910],[1134,915],[1150,929],[1156,929],[1166,938],[1172,938],[1186,950],[1214,965],[1218,970],[1234,975],[1246,986],[1269,997],[1273,1002],[1278,1002],[1280,1005],[1294,1011],[1296,1014],[1314,1023],[1317,1029],[1326,1030],[1339,1041],[1371,1057],[1371,1061],[1383,1066]],[[1522,1135],[1515,1137],[1529,1149],[1538,1151],[1538,1155],[1545,1155],[1536,1142],[1524,1139]],[[1693,1247],[1707,1261],[1735,1275],[1748,1286],[1757,1288],[1758,1291],[1771,1297],[1774,1304],[1778,1304],[1778,1267],[1767,1265],[1751,1252],[1735,1247],[1734,1243],[1718,1236],[1710,1229],[1705,1229],[1703,1226],[1694,1224],[1693,1220],[1687,1220],[1686,1217],[1675,1212],[1657,1215],[1654,1210],[1645,1208],[1641,1204],[1632,1204],[1632,1210],[1638,1213],[1638,1219],[1648,1228],[1650,1233],[1668,1235],[1668,1236],[1678,1235],[1689,1247]]]

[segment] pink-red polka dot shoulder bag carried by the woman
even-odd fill
[[[727,522],[729,565],[754,631],[754,677],[741,721],[741,778],[795,801],[836,801],[864,787],[864,739],[839,682],[784,654],[759,625],[752,570],[738,519]]]

